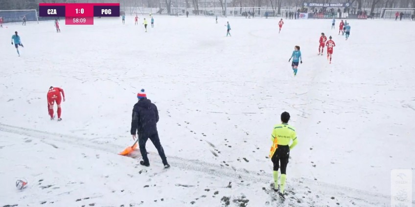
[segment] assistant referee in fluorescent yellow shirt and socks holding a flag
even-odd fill
[[[270,158],[274,164],[274,190],[278,192],[279,197],[284,199],[285,179],[287,178],[287,165],[290,158],[290,150],[297,143],[296,129],[288,124],[290,114],[286,111],[281,114],[281,124],[274,126],[271,134],[273,145],[270,150]],[[291,144],[291,145],[290,145]],[[280,185],[278,185],[278,169],[281,169]]]

